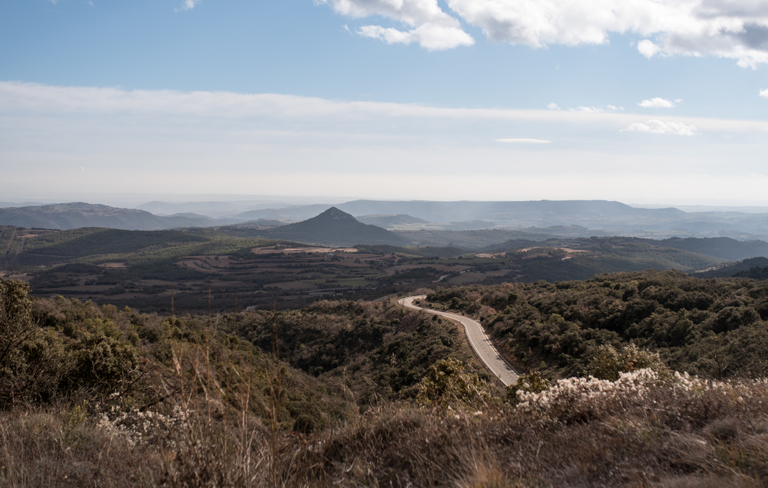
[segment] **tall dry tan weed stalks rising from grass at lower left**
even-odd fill
[[[174,314],[171,315],[175,327]],[[253,396],[253,354],[247,362],[235,341],[217,358],[223,370],[217,375],[211,361],[211,334],[218,316],[209,314],[203,344],[185,345],[170,339],[177,383],[172,406],[183,412],[184,429],[177,436],[177,452],[164,459],[171,486],[258,486],[265,450],[258,421],[250,414]],[[184,327],[184,325],[182,325]],[[171,329],[172,331],[173,329]],[[184,337],[185,330],[181,330]],[[249,351],[250,352],[250,351]],[[220,378],[223,378],[221,380]],[[239,387],[235,387],[235,380]],[[170,384],[166,390],[173,390]]]

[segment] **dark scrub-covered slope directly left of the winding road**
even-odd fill
[[[416,383],[440,360],[470,361],[455,324],[401,310],[386,302],[323,300],[302,310],[247,314],[239,330],[266,349],[276,327],[280,355],[293,367],[321,378],[340,377],[359,402],[375,403],[412,397]]]

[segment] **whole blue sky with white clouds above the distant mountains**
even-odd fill
[[[768,204],[768,2],[3,0],[0,201]]]

